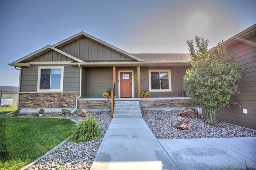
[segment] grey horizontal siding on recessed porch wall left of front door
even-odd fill
[[[87,68],[87,98],[103,98],[103,92],[112,87],[112,72],[112,67]]]

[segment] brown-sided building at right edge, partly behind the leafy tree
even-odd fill
[[[256,129],[256,24],[226,40],[228,55],[244,67],[243,77],[238,83],[240,94],[232,100],[241,106],[220,108],[217,120]]]

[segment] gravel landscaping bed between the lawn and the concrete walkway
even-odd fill
[[[61,113],[44,113],[43,117],[66,117],[76,121],[86,119],[86,117],[78,116],[78,113],[66,115],[61,115]],[[86,143],[68,141],[25,170],[89,170],[112,120],[110,111],[90,111],[90,114],[101,124],[101,137]],[[39,117],[39,114],[20,115],[19,117]]]

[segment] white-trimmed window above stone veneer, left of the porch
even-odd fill
[[[38,92],[62,92],[63,87],[63,66],[38,67]]]

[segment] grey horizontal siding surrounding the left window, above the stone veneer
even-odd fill
[[[31,65],[30,67],[22,67],[20,92],[36,92],[38,80],[38,66],[49,65]],[[60,66],[60,65],[51,65]],[[64,92],[79,92],[80,86],[80,69],[70,65],[64,65]]]

